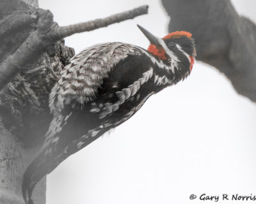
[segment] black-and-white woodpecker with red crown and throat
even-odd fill
[[[127,43],[101,43],[75,55],[49,94],[52,121],[38,156],[23,175],[26,204],[36,183],[68,156],[132,117],[145,101],[189,76],[195,41],[186,31],[158,38],[138,25],[146,49]]]

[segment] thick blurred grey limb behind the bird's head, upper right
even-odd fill
[[[229,0],[162,0],[169,31],[189,31],[196,59],[214,66],[237,93],[256,102],[256,26],[239,16]]]

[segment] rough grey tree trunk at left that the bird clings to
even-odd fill
[[[0,63],[17,50],[36,29],[34,13],[38,0],[0,0]],[[56,82],[54,71],[60,72],[74,55],[63,42],[55,45],[56,55],[42,55],[25,70],[44,67],[36,73],[19,73],[0,91],[0,203],[24,204],[22,177],[29,163],[36,157],[51,122],[48,95]],[[50,71],[49,71],[50,70]],[[46,178],[35,187],[33,200],[45,204]]]

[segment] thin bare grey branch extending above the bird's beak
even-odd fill
[[[13,55],[10,55],[0,64],[0,90],[16,76],[26,64],[35,62],[38,56],[45,52],[47,48],[52,47],[55,41],[61,40],[74,33],[92,31],[100,27],[106,27],[110,24],[132,19],[139,15],[146,14],[147,11],[148,6],[140,6],[134,10],[118,13],[107,18],[66,27],[58,27],[52,20],[51,12],[44,11],[38,20],[38,29],[29,35],[26,41],[20,45]]]

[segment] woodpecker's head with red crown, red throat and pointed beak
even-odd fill
[[[196,57],[195,42],[192,34],[186,31],[169,33],[163,38],[157,38],[138,25],[141,32],[148,38],[148,52],[163,61],[167,66],[190,73]],[[174,69],[174,68],[173,68]]]

